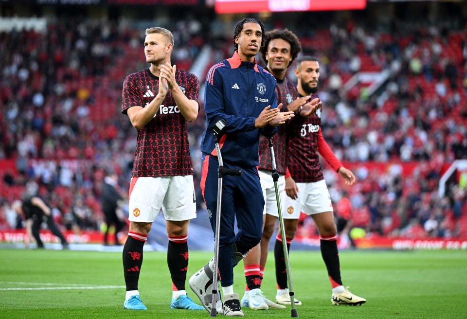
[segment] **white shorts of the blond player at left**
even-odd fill
[[[162,209],[166,220],[196,217],[193,176],[132,177],[128,220],[152,223]]]

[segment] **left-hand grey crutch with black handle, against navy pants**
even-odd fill
[[[219,135],[222,129],[227,125],[224,119],[219,120],[214,126],[214,143],[216,144],[217,160],[219,161],[219,168],[217,169],[217,207],[216,207],[216,227],[214,236],[214,269],[213,269],[213,301],[211,306],[211,317],[217,316],[216,310],[216,296],[217,296],[217,266],[219,257],[219,233],[220,233],[220,203],[222,199],[222,178],[227,175],[242,175],[242,170],[224,168],[222,156],[220,154]]]

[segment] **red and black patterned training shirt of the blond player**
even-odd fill
[[[175,80],[189,100],[198,102],[198,78],[177,70]],[[149,69],[130,74],[123,85],[122,113],[147,106],[159,91],[159,78]],[[172,92],[167,92],[154,118],[138,131],[132,177],[193,175],[186,120]]]

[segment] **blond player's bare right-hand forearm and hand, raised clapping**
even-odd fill
[[[159,77],[162,77],[167,81],[168,88],[172,91],[172,96],[174,97],[175,102],[177,103],[177,106],[180,109],[181,115],[183,115],[183,117],[188,122],[193,122],[198,116],[198,102],[195,100],[188,99],[185,96],[185,94],[183,94],[183,91],[180,89],[179,85],[177,84],[177,81],[175,80],[176,71],[176,65],[171,67],[170,64],[167,62],[166,64],[161,66],[161,75]],[[197,85],[196,89],[199,90],[199,84]]]

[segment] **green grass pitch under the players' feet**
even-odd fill
[[[212,256],[190,252],[188,276]],[[466,251],[341,251],[344,285],[367,299],[362,306],[331,305],[331,289],[319,251],[291,251],[292,283],[299,318],[467,318]],[[170,309],[172,284],[165,252],[145,252],[139,290],[147,311],[123,309],[121,253],[73,250],[0,250],[0,318],[209,318],[207,311]],[[234,290],[243,295],[243,266],[234,269]],[[193,300],[198,301],[188,287]],[[262,290],[275,296],[269,254]],[[253,311],[250,318],[290,318],[285,310]],[[218,317],[223,317],[218,315]]]

